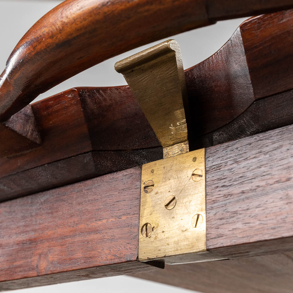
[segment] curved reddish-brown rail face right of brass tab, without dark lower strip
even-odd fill
[[[218,52],[185,71],[191,134],[215,131],[255,100],[293,88],[292,13],[244,21]]]

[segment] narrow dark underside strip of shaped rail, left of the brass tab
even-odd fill
[[[0,179],[0,200],[11,200],[162,159],[162,149],[91,151]]]

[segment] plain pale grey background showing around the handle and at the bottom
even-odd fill
[[[0,72],[5,68],[5,63],[13,48],[25,32],[46,12],[62,1],[58,0],[0,0]],[[191,67],[208,58],[216,52],[231,37],[243,18],[221,21],[215,25],[199,28],[187,33],[170,36],[175,39],[181,48],[184,69]],[[114,69],[116,61],[128,57],[136,52],[146,49],[151,45],[139,47],[117,57],[108,59],[80,74],[55,86],[50,91],[40,95],[36,100],[47,98],[76,86],[117,86],[126,84],[123,76]],[[1,267],[1,264],[0,264]],[[1,273],[1,270],[0,270]],[[196,282],[196,279],[195,279]],[[96,280],[65,283],[45,287],[23,289],[18,293],[37,292],[193,292],[177,287],[162,285],[127,276],[110,277]]]

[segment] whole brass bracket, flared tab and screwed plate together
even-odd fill
[[[117,62],[115,69],[124,75],[163,147],[163,160],[142,166],[139,260],[222,259],[206,247],[205,150],[188,152],[178,43],[162,42]]]

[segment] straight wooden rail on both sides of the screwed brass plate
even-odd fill
[[[209,251],[231,259],[293,251],[292,135],[293,125],[206,149]],[[0,288],[28,286],[26,277],[47,275],[34,285],[84,279],[84,269],[135,262],[140,189],[134,167],[2,202]]]

